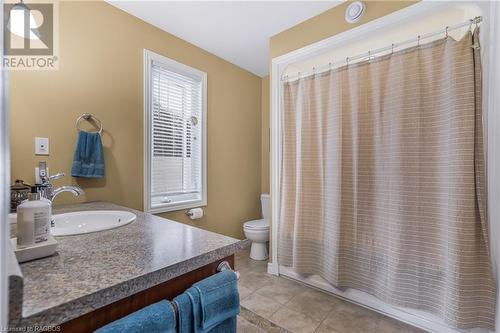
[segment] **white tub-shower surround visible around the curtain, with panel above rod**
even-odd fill
[[[494,50],[490,48],[491,35],[490,31],[497,27],[498,20],[496,12],[498,12],[498,4],[488,2],[461,2],[461,3],[436,3],[422,2],[406,9],[403,9],[394,14],[388,15],[381,19],[372,21],[358,28],[341,33],[330,39],[318,42],[307,46],[301,50],[294,51],[290,54],[273,59],[272,62],[272,112],[271,112],[271,127],[272,127],[272,148],[271,148],[271,170],[272,170],[272,263],[269,264],[268,271],[273,274],[288,276],[314,287],[324,289],[328,292],[344,297],[350,301],[360,305],[372,308],[389,316],[395,317],[402,321],[408,322],[421,328],[435,332],[457,332],[447,326],[442,320],[438,319],[426,311],[414,310],[394,305],[389,305],[380,301],[378,298],[371,296],[357,289],[337,289],[329,284],[323,278],[317,275],[305,275],[290,268],[290,265],[283,265],[278,257],[278,230],[280,230],[280,210],[281,189],[283,184],[282,165],[283,165],[283,78],[288,75],[289,80],[293,80],[297,75],[308,75],[311,71],[318,71],[321,66],[339,66],[343,59],[352,55],[366,53],[369,50],[379,49],[381,47],[408,40],[416,35],[425,35],[429,32],[442,30],[446,25],[453,26],[466,21],[466,19],[476,16],[483,17],[481,26],[481,58],[483,60],[483,113],[484,113],[484,138],[486,142],[500,142],[495,136],[498,135],[491,131],[493,126],[498,126],[500,119],[497,115],[492,114],[492,106],[495,100],[489,98],[489,91],[498,84],[490,73],[493,72],[495,64],[493,63]],[[425,23],[425,24],[423,24]],[[397,27],[397,28],[395,28]],[[468,27],[462,30],[449,32],[450,36],[459,38],[465,33]],[[444,31],[444,30],[443,30]],[[453,35],[455,34],[455,35]],[[443,32],[444,35],[444,32]],[[443,36],[436,35],[434,39],[440,39]],[[432,41],[430,38],[425,42]],[[409,45],[411,46],[411,45]],[[400,49],[406,48],[401,46]],[[393,52],[389,50],[388,52]],[[368,56],[370,56],[368,54]],[[366,60],[366,59],[360,59]],[[347,60],[349,61],[349,60]],[[328,69],[328,68],[327,68]],[[299,74],[302,73],[302,74]],[[497,86],[498,87],[498,86]],[[490,130],[489,130],[490,129]],[[496,170],[500,170],[500,164],[496,165],[496,170],[492,170],[492,165],[495,163],[497,154],[494,152],[493,145],[486,145],[487,156],[487,184],[489,186],[488,197],[491,201],[496,193],[491,193],[492,188],[490,183],[495,177],[498,177]],[[499,197],[496,197],[500,199]],[[494,206],[494,205],[493,205]],[[496,212],[492,212],[496,207],[489,206],[488,215],[490,221],[492,217],[498,216]],[[498,228],[495,225],[490,226],[491,235],[491,253],[493,260],[496,262],[497,246],[499,242],[494,240],[499,239]],[[481,330],[476,330],[481,331]]]

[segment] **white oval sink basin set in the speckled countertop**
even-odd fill
[[[57,214],[53,218],[52,234],[69,236],[122,227],[135,221],[137,216],[122,210],[88,210]]]

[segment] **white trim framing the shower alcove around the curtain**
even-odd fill
[[[493,42],[493,35],[498,39],[500,36],[500,3],[496,2],[481,2],[481,1],[468,1],[461,2],[461,4],[474,4],[481,8],[483,12],[483,24],[481,25],[481,39],[485,42],[482,44],[482,60],[483,60],[483,105],[486,121],[485,132],[486,142],[490,144],[487,146],[487,186],[488,186],[488,199],[491,203],[500,202],[500,152],[497,152],[500,142],[500,63],[496,59],[500,58],[500,46],[496,41]],[[401,9],[392,14],[386,15],[379,19],[368,22],[359,27],[342,32],[330,38],[324,39],[317,43],[308,45],[301,49],[292,51],[285,55],[272,59],[271,61],[271,239],[272,239],[272,257],[268,264],[268,273],[274,275],[285,275],[313,287],[326,290],[334,293],[340,297],[346,298],[359,305],[369,307],[375,311],[395,317],[399,320],[408,322],[412,325],[421,328],[435,331],[435,332],[456,332],[443,325],[443,323],[436,323],[434,318],[424,318],[425,315],[410,309],[401,309],[384,304],[376,299],[366,297],[364,293],[350,290],[348,292],[340,292],[338,289],[333,288],[327,284],[319,281],[306,280],[296,273],[282,267],[278,263],[278,226],[279,226],[279,213],[280,213],[280,200],[281,200],[281,104],[282,104],[282,90],[281,90],[281,77],[288,65],[295,62],[306,60],[308,58],[325,53],[342,44],[353,42],[364,38],[368,33],[374,31],[383,31],[391,26],[397,26],[410,18],[422,17],[425,13],[433,10],[446,8],[456,5],[456,2],[427,2],[422,1],[415,5]],[[492,34],[490,35],[490,31]],[[384,46],[384,45],[382,45]],[[491,96],[491,98],[489,98]],[[495,112],[493,112],[495,111]],[[496,186],[494,186],[496,184]],[[491,242],[492,253],[495,260],[495,271],[497,276],[500,276],[500,225],[497,221],[500,220],[500,205],[488,205],[488,216],[491,225],[491,239],[498,240]],[[495,221],[495,223],[491,223]],[[497,295],[497,300],[498,300]],[[499,303],[497,301],[497,303]],[[497,318],[499,306],[497,306]],[[500,325],[497,321],[497,331],[500,331]]]

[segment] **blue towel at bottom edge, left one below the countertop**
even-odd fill
[[[176,333],[175,312],[169,301],[151,304],[99,328],[94,333]]]

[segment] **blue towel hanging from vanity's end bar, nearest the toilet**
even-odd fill
[[[235,333],[240,313],[236,274],[224,271],[195,283],[175,298],[179,333]]]

